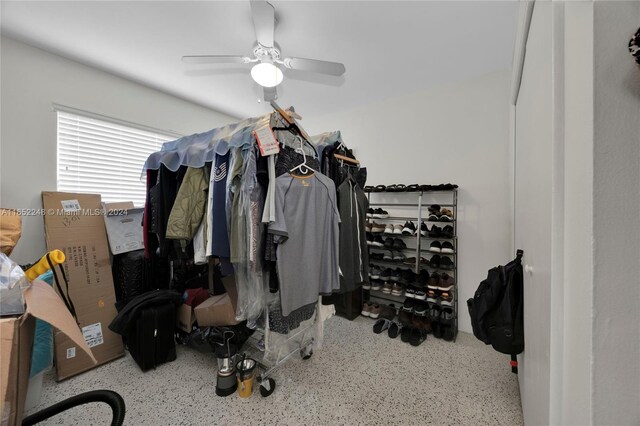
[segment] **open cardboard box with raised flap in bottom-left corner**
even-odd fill
[[[46,283],[33,281],[25,291],[26,311],[19,317],[0,319],[0,423],[22,423],[24,404],[31,370],[31,351],[35,318],[48,322],[64,334],[78,351],[95,364],[97,361],[85,343],[75,320]]]

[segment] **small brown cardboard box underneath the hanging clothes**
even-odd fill
[[[224,277],[222,283],[227,293],[211,296],[193,310],[199,327],[235,325],[240,322],[236,321],[238,292],[235,277]]]

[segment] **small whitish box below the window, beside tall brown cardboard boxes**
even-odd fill
[[[111,253],[120,254],[143,249],[142,215],[144,209],[134,208],[131,201],[102,203],[102,205]]]

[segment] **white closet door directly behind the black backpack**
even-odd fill
[[[520,394],[525,424],[549,423],[552,218],[552,8],[536,2],[515,117],[516,248],[524,250],[525,352]]]

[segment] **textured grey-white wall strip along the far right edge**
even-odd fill
[[[594,4],[593,421],[640,423],[640,2]]]

